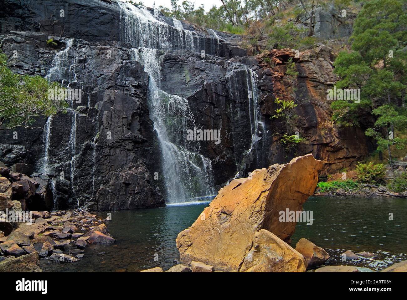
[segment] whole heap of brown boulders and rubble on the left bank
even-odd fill
[[[114,243],[104,221],[87,211],[32,211],[44,180],[0,167],[0,272],[41,272],[39,259],[76,262],[88,243]]]

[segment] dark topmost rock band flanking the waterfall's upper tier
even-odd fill
[[[13,30],[34,32],[39,30],[48,35],[60,35],[89,42],[126,41],[125,28],[121,22],[123,12],[129,9],[126,5],[120,5],[119,3],[122,2],[118,0],[5,0],[3,3],[0,12],[0,23],[2,24],[0,34],[7,34]],[[151,18],[155,18],[164,26],[166,24],[171,26],[163,33],[171,41],[176,39],[179,32],[172,27],[174,26],[172,18],[161,14],[155,15],[153,9],[147,9],[146,13],[150,13]],[[153,17],[154,15],[155,17]],[[224,52],[232,52],[228,49],[230,48],[228,43],[223,47],[219,45],[222,41],[215,36],[213,31],[184,22],[182,22],[182,26],[196,35],[196,43],[197,46],[199,45],[197,52],[204,51],[206,54],[220,56],[224,56]],[[182,35],[185,42],[188,42],[185,33]],[[218,36],[225,40],[241,39],[239,36],[227,33],[218,33]],[[144,37],[144,39],[146,38],[151,37]],[[133,46],[144,45],[133,44]],[[173,47],[175,47],[173,49],[177,49],[176,45]]]

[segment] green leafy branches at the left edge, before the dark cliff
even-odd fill
[[[0,53],[0,129],[29,127],[34,118],[52,115],[67,106],[65,100],[48,99],[48,89],[59,87],[41,76],[14,74]]]

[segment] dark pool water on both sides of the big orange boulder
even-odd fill
[[[85,256],[77,263],[42,259],[40,265],[43,271],[136,272],[156,266],[167,270],[174,259],[179,259],[175,246],[178,233],[195,222],[208,203],[112,212],[112,221],[106,225],[116,239],[114,245],[88,244]],[[309,239],[330,254],[327,265],[380,270],[407,259],[405,199],[319,196],[310,197],[304,209],[313,211],[313,224],[297,223],[291,246],[295,247],[301,237]],[[394,214],[393,221],[389,221],[389,213]],[[376,257],[343,262],[340,254],[345,250],[373,252]]]

